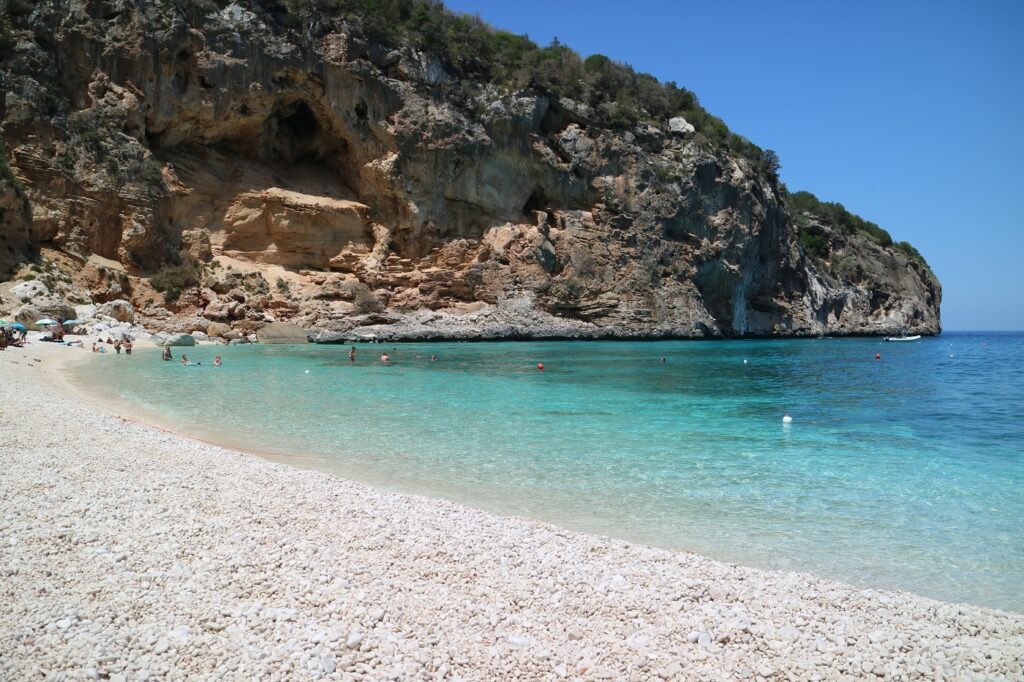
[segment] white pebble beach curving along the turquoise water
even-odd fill
[[[41,346],[0,352],[0,679],[1024,679],[1024,614],[268,462]]]

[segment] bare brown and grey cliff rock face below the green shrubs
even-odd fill
[[[332,340],[940,331],[927,266],[841,233],[850,260],[811,258],[774,175],[684,118],[612,128],[486,84],[457,101],[430,55],[357,23],[219,4],[12,17],[2,126],[32,224],[0,232],[123,268],[76,274],[83,298]],[[179,254],[199,284],[155,291]]]

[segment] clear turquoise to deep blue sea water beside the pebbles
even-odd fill
[[[1024,610],[1024,335],[393,347],[140,350],[73,379],[392,489]]]

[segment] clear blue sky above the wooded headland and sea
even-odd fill
[[[946,330],[1024,330],[1024,1],[446,0],[693,90],[918,247]]]

